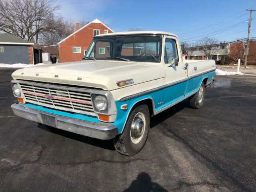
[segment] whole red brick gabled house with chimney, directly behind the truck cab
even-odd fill
[[[114,31],[98,19],[93,20],[82,28],[79,28],[79,23],[76,23],[76,31],[58,42],[59,62],[82,60],[95,35],[112,32]]]

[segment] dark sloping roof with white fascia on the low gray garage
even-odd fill
[[[24,40],[20,37],[9,33],[0,34],[0,44],[14,44],[14,45],[34,45],[33,42]]]

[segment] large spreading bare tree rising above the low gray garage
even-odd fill
[[[62,18],[55,17],[55,0],[0,0],[0,31],[38,43],[43,33],[56,33]]]

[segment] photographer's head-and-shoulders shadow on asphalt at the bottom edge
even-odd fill
[[[157,183],[152,182],[151,177],[146,172],[138,174],[137,178],[132,181],[130,186],[123,192],[168,192],[165,188]]]

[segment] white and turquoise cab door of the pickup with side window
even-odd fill
[[[175,37],[166,36],[164,39],[164,68],[166,73],[166,88],[164,104],[168,106],[184,99],[188,82],[187,70],[182,62],[182,55]],[[170,66],[174,59],[178,59],[178,66]]]

